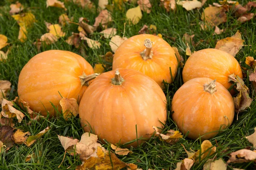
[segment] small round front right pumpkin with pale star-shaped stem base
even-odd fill
[[[233,122],[235,106],[230,92],[207,77],[185,82],[172,99],[172,119],[183,134],[202,140],[215,136]]]

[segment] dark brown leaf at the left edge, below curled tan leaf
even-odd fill
[[[0,127],[0,141],[3,145],[6,145],[6,150],[9,150],[14,146],[14,141],[12,139],[13,128],[10,126]]]

